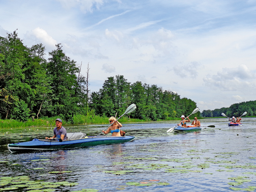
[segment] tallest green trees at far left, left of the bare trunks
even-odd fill
[[[42,44],[28,48],[16,31],[0,37],[0,118],[60,116],[73,123],[74,113],[86,114],[85,81],[78,80],[76,62],[60,44],[48,61],[44,55]]]

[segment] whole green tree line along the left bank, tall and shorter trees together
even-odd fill
[[[131,118],[167,120],[189,115],[197,104],[157,85],[130,83],[122,75],[109,77],[98,92],[89,91],[85,76],[61,44],[48,53],[45,46],[27,47],[18,33],[0,37],[0,118],[26,122],[39,116],[59,116],[72,124],[74,114],[116,116],[135,103]],[[200,115],[196,114],[197,116]]]

